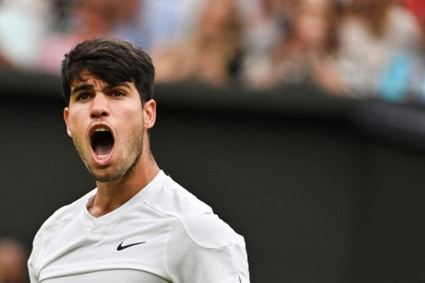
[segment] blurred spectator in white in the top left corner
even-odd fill
[[[50,27],[49,1],[0,1],[0,54],[3,66],[31,69]]]

